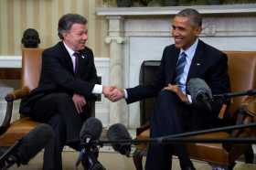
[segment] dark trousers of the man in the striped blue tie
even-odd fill
[[[155,111],[151,118],[151,137],[184,133],[189,127],[189,106],[182,103],[175,93],[167,90],[159,92],[155,101]],[[146,157],[146,170],[170,170],[172,153],[179,158],[181,169],[192,167],[184,144],[150,144]]]

